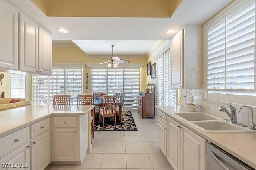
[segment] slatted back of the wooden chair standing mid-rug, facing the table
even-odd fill
[[[110,117],[116,114],[116,96],[103,97],[102,113],[104,117]]]

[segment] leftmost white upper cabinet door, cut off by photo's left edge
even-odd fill
[[[18,70],[18,10],[0,0],[0,68]]]

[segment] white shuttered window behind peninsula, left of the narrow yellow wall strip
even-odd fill
[[[71,104],[76,105],[77,95],[82,94],[82,69],[52,69],[52,76],[32,76],[34,104],[50,105],[57,94],[71,95]]]

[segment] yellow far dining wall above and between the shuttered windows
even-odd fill
[[[146,56],[145,57],[126,57],[123,59],[130,61],[131,63],[140,63],[143,67],[140,69],[140,91],[143,91],[146,87]],[[89,57],[80,48],[53,48],[52,49],[52,63],[101,63],[102,60]],[[86,89],[86,73],[88,73],[88,89]],[[84,68],[83,70],[83,93],[91,94],[91,69]]]

